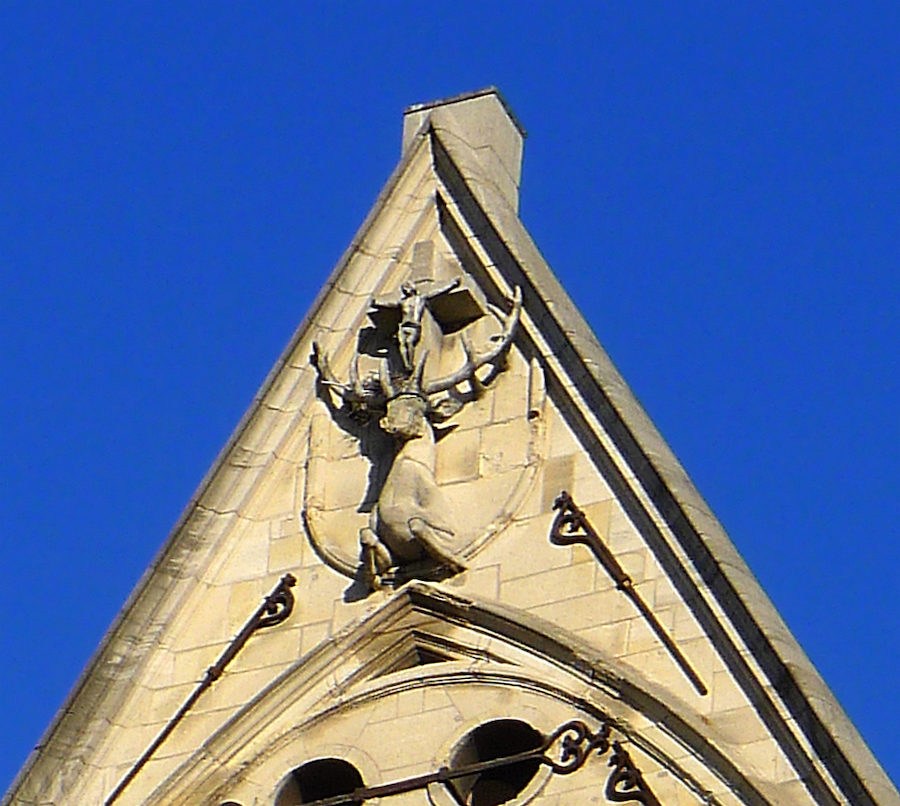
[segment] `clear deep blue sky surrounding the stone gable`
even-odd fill
[[[0,790],[399,156],[495,84],[522,218],[900,780],[900,4],[0,9]]]

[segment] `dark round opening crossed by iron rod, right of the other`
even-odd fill
[[[544,737],[527,722],[496,719],[479,725],[457,745],[451,766],[458,768],[536,750],[543,741]],[[525,789],[539,767],[540,761],[530,759],[457,778],[452,783],[456,800],[465,806],[499,806]]]

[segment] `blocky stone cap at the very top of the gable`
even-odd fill
[[[454,157],[460,151],[457,145],[473,153],[482,178],[518,210],[525,129],[496,87],[408,107],[403,113],[403,152],[427,125],[440,134]]]

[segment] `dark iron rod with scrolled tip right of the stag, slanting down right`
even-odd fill
[[[619,565],[619,561],[594,530],[594,527],[591,526],[587,516],[575,505],[572,496],[564,490],[557,497],[553,508],[559,510],[559,512],[553,520],[553,525],[550,527],[550,542],[556,546],[571,546],[574,543],[581,543],[590,548],[594,552],[594,556],[616,583],[616,588],[631,599],[635,607],[640,611],[650,625],[650,629],[662,641],[663,646],[669,651],[672,659],[678,664],[678,667],[684,672],[687,679],[691,681],[691,685],[694,686],[699,694],[708,694],[709,690],[700,679],[700,676],[688,663],[688,659],[666,632],[660,620],[647,606],[643,597],[634,587],[631,577]]]

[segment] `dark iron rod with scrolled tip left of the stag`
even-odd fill
[[[122,794],[125,787],[127,787],[141,771],[143,766],[150,760],[150,757],[159,749],[159,746],[169,738],[169,734],[175,730],[175,726],[178,725],[178,723],[184,719],[188,711],[194,707],[194,704],[200,699],[203,692],[222,676],[225,667],[234,660],[234,657],[241,651],[244,644],[250,639],[250,636],[257,630],[280,624],[291,615],[291,612],[294,609],[294,594],[291,593],[291,588],[296,584],[297,580],[294,578],[293,574],[285,574],[281,578],[279,583],[275,586],[275,589],[263,599],[262,604],[256,609],[256,612],[250,617],[249,621],[247,621],[241,631],[232,639],[231,643],[225,648],[225,651],[219,656],[219,659],[206,670],[203,680],[200,681],[197,688],[191,693],[191,696],[185,700],[175,716],[166,723],[165,727],[150,743],[150,746],[143,752],[131,769],[128,770],[125,777],[119,781],[116,788],[104,801],[103,806],[111,806],[111,804],[118,800],[119,795]]]

